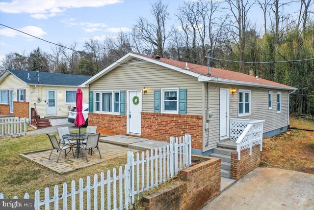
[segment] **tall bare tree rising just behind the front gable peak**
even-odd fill
[[[140,17],[137,24],[134,25],[132,30],[132,37],[134,41],[146,42],[146,47],[151,46],[154,54],[158,54],[161,57],[164,53],[166,40],[171,36],[173,30],[166,31],[166,20],[169,17],[167,12],[167,4],[163,4],[161,0],[152,4],[152,15],[155,18],[154,23],[149,23],[143,17]],[[143,45],[144,46],[144,45]],[[135,47],[137,50],[144,52],[146,49],[140,49],[141,45],[137,44]]]

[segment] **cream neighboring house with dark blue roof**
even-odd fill
[[[90,78],[73,74],[6,70],[0,76],[0,115],[26,117],[34,122],[36,113],[39,119],[50,119],[51,125],[68,123],[68,112],[76,104],[78,86]],[[83,103],[87,104],[88,88],[82,91]]]

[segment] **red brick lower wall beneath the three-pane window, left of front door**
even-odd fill
[[[88,125],[98,126],[97,132],[105,135],[127,134],[127,116],[88,113]]]

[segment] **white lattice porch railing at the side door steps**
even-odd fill
[[[241,159],[241,150],[249,148],[249,155],[252,155],[252,147],[260,144],[260,151],[262,151],[265,120],[231,119],[230,121],[230,140],[236,141],[238,160]]]

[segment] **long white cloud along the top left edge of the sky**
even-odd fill
[[[124,0],[13,0],[0,2],[0,12],[28,13],[32,18],[46,19],[65,12],[70,8],[103,7],[109,4],[121,3]],[[46,14],[46,16],[45,16]]]

